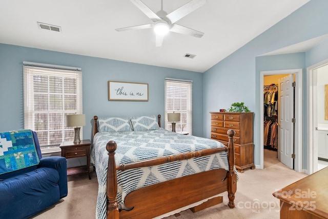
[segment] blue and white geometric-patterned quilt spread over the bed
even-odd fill
[[[97,133],[91,148],[91,162],[95,165],[98,178],[96,217],[106,218],[106,180],[108,152],[106,144],[115,141],[116,166],[149,158],[183,154],[207,148],[224,147],[218,141],[195,136],[181,135],[166,129],[141,132]],[[117,201],[123,209],[126,195],[142,187],[188,176],[197,172],[224,168],[229,170],[227,152],[175,161],[152,167],[117,171]]]

